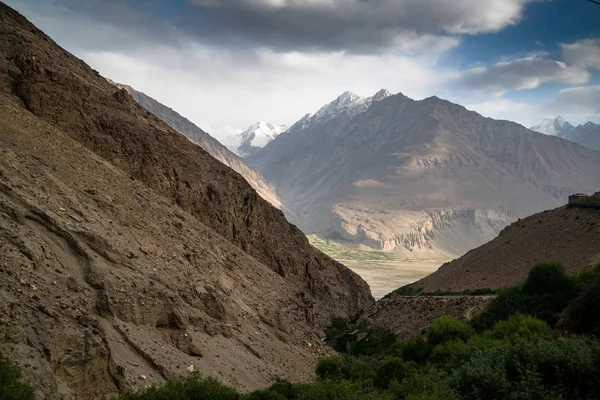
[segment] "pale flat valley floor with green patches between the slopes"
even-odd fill
[[[441,259],[397,259],[393,254],[365,251],[345,246],[318,235],[308,235],[310,243],[356,272],[369,284],[371,294],[379,300],[386,294],[404,285],[435,272],[449,260]]]

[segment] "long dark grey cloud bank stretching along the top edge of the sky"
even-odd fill
[[[531,0],[13,0],[38,24],[65,20],[64,40],[99,50],[181,45],[277,51],[403,52],[451,47],[460,34],[517,23]],[[69,16],[69,18],[65,18]],[[103,24],[85,30],[86,24]],[[92,25],[90,25],[92,26]],[[71,32],[84,32],[69,35]],[[69,37],[70,36],[70,37]]]

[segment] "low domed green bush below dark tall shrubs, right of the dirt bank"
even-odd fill
[[[550,339],[552,338],[552,329],[537,318],[515,314],[506,321],[498,322],[491,331],[486,332],[486,336],[504,341]]]

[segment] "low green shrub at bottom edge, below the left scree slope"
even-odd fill
[[[214,378],[192,376],[181,381],[169,381],[135,393],[124,394],[119,400],[239,400],[240,395]]]

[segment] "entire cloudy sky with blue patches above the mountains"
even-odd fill
[[[586,0],[4,1],[221,139],[382,88],[525,126],[600,122],[600,5]]]

